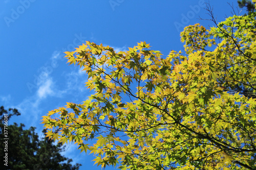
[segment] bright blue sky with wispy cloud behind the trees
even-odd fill
[[[41,116],[66,102],[79,104],[91,94],[84,87],[85,72],[68,66],[63,52],[85,41],[116,51],[145,41],[163,57],[171,50],[182,51],[184,26],[214,26],[212,21],[199,19],[210,19],[204,3],[213,7],[218,22],[232,16],[232,3],[237,13],[241,10],[237,0],[1,0],[0,106],[17,108],[22,114],[9,124],[33,126],[41,134]],[[69,144],[62,154],[81,163],[81,170],[101,169],[93,165],[93,155],[79,153],[76,145]]]

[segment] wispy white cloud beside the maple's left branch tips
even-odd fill
[[[126,47],[113,47],[114,50],[118,53],[120,51],[125,51]],[[42,109],[45,107],[41,107],[40,105],[49,100],[54,100],[56,98],[59,99],[70,99],[72,95],[73,98],[79,99],[84,98],[84,95],[89,95],[89,91],[87,88],[84,87],[84,83],[86,83],[88,76],[86,71],[82,71],[83,68],[74,67],[71,71],[66,72],[63,70],[62,81],[58,82],[57,79],[54,79],[56,75],[53,75],[52,72],[55,67],[58,67],[56,64],[60,64],[59,61],[63,59],[63,56],[55,51],[53,52],[50,60],[51,64],[48,66],[39,68],[39,72],[43,72],[44,75],[40,74],[42,79],[37,86],[35,86],[35,92],[31,93],[32,95],[25,98],[22,102],[18,105],[14,106],[20,110],[22,114],[30,115],[29,117],[33,118],[34,120],[40,119],[42,115]],[[51,66],[51,69],[50,69]],[[49,70],[47,71],[47,68]],[[39,76],[38,76],[39,77]],[[64,82],[64,83],[63,83]],[[2,101],[10,101],[11,96],[0,96]],[[55,99],[55,100],[56,100]],[[36,114],[35,114],[36,113]]]

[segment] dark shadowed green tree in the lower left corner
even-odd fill
[[[35,128],[30,127],[28,130],[24,130],[24,124],[19,126],[14,123],[8,125],[7,129],[4,129],[4,115],[8,115],[8,120],[14,115],[18,116],[20,113],[17,109],[5,110],[2,106],[0,108],[0,157],[1,165],[0,169],[29,169],[29,170],[77,170],[81,164],[72,165],[72,159],[68,159],[60,155],[60,152],[65,148],[61,147],[58,143],[55,145],[52,140],[47,138],[39,139],[35,133]],[[8,131],[8,151],[4,151],[4,132]],[[43,131],[45,133],[45,131]],[[5,153],[8,153],[8,166],[4,165]]]

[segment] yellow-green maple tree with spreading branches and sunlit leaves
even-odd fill
[[[185,27],[184,52],[89,41],[66,52],[94,94],[43,116],[47,137],[102,167],[256,169],[256,12],[217,23],[208,11],[215,26]]]

